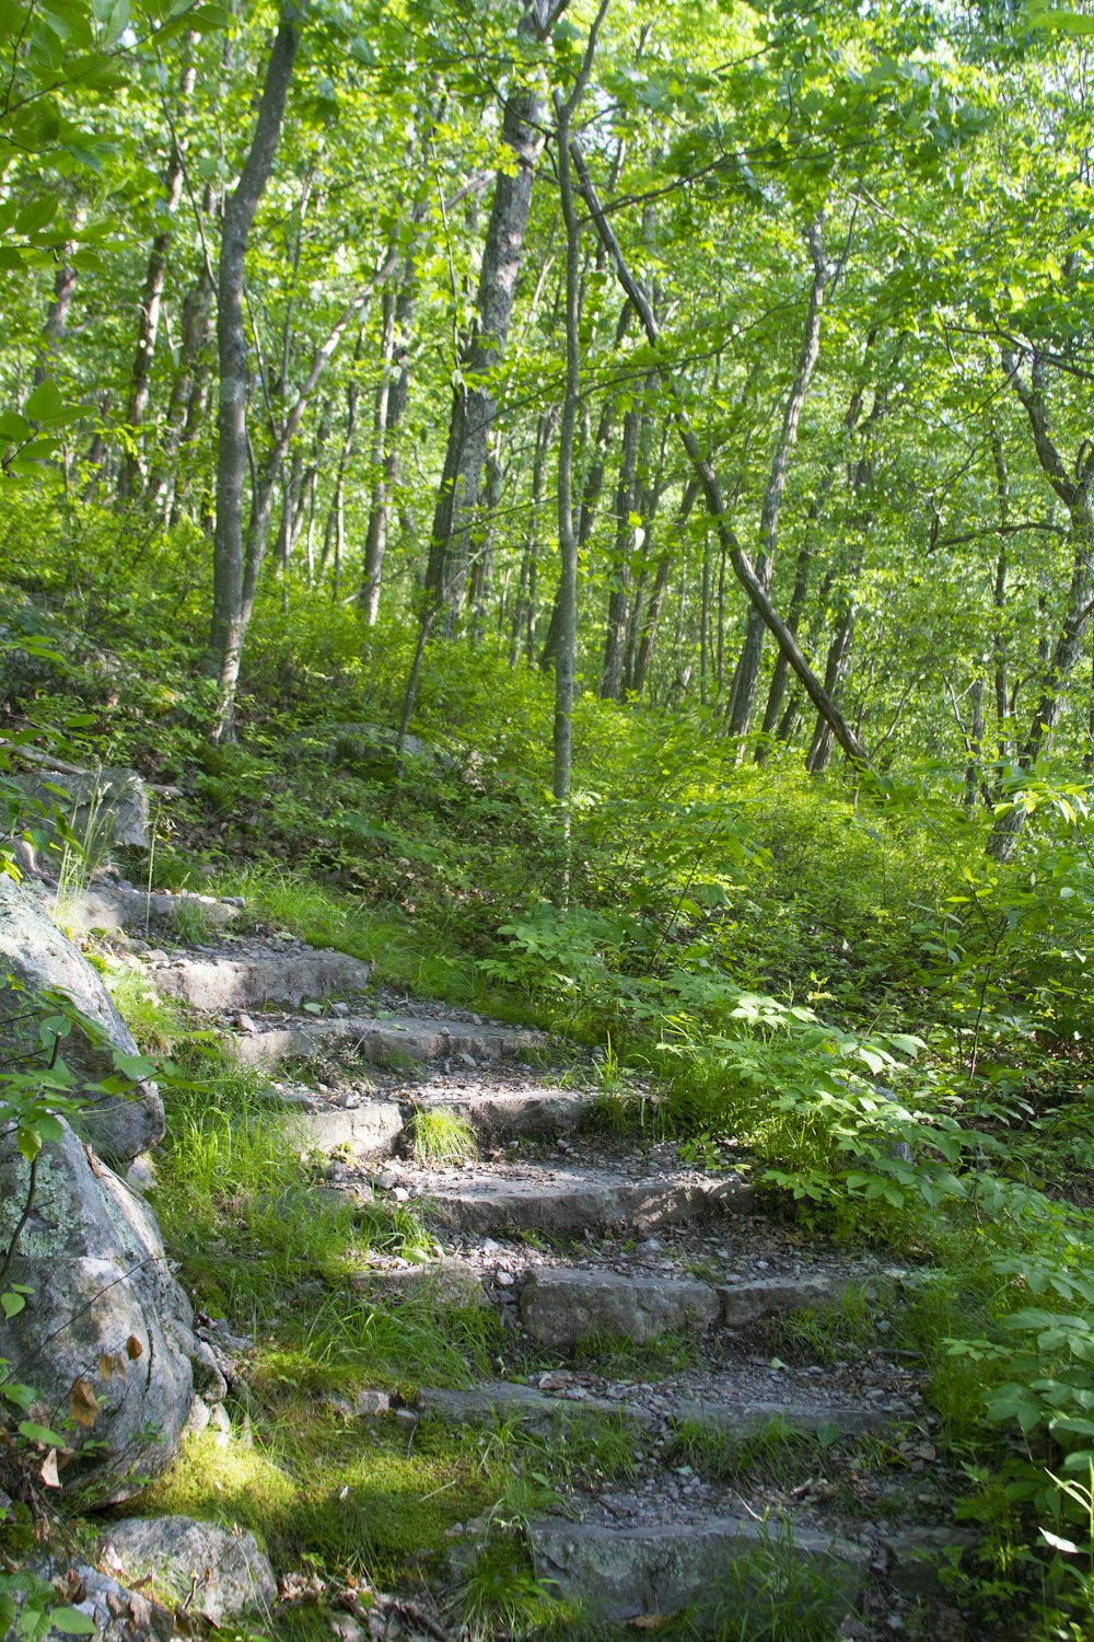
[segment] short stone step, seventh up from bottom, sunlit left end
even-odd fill
[[[195,1010],[299,1010],[307,998],[364,992],[372,965],[346,952],[300,947],[254,957],[189,956],[157,964],[153,984]]]

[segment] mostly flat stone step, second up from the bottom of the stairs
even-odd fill
[[[789,1396],[779,1401],[746,1397],[740,1392],[733,1396],[733,1381],[727,1376],[725,1392],[704,1397],[691,1394],[686,1387],[663,1386],[654,1410],[636,1399],[605,1397],[589,1391],[577,1394],[566,1387],[548,1392],[538,1386],[485,1381],[472,1391],[422,1387],[415,1407],[418,1414],[435,1414],[461,1425],[490,1425],[500,1419],[517,1419],[531,1430],[549,1432],[559,1422],[595,1414],[633,1420],[643,1429],[658,1424],[676,1429],[687,1422],[740,1438],[771,1427],[802,1437],[814,1437],[818,1430],[835,1432],[838,1437],[863,1437],[894,1420],[892,1412],[876,1404],[805,1397],[795,1394],[792,1386],[787,1392]]]

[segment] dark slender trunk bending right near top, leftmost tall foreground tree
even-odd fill
[[[217,453],[217,529],[213,537],[213,619],[207,670],[217,680],[218,703],[212,741],[233,736],[236,683],[249,611],[244,589],[243,489],[248,471],[248,369],[243,281],[251,225],[266,192],[289,99],[292,66],[300,43],[295,7],[280,13],[266,67],[262,100],[251,151],[239,182],[225,204],[220,243],[217,345],[220,355],[220,414]]]

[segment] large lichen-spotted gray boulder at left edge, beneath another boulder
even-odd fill
[[[126,1499],[175,1456],[195,1381],[223,1396],[223,1379],[144,1199],[67,1125],[38,1156],[33,1195],[30,1164],[10,1138],[0,1146],[0,1250],[30,1197],[5,1284],[30,1291],[3,1323],[7,1376],[34,1387],[43,1424],[62,1425],[62,1486]]]

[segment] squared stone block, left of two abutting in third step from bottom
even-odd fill
[[[663,1333],[707,1333],[718,1296],[686,1277],[623,1277],[613,1271],[545,1268],[520,1296],[520,1320],[541,1345],[569,1346],[594,1330],[645,1345]]]

